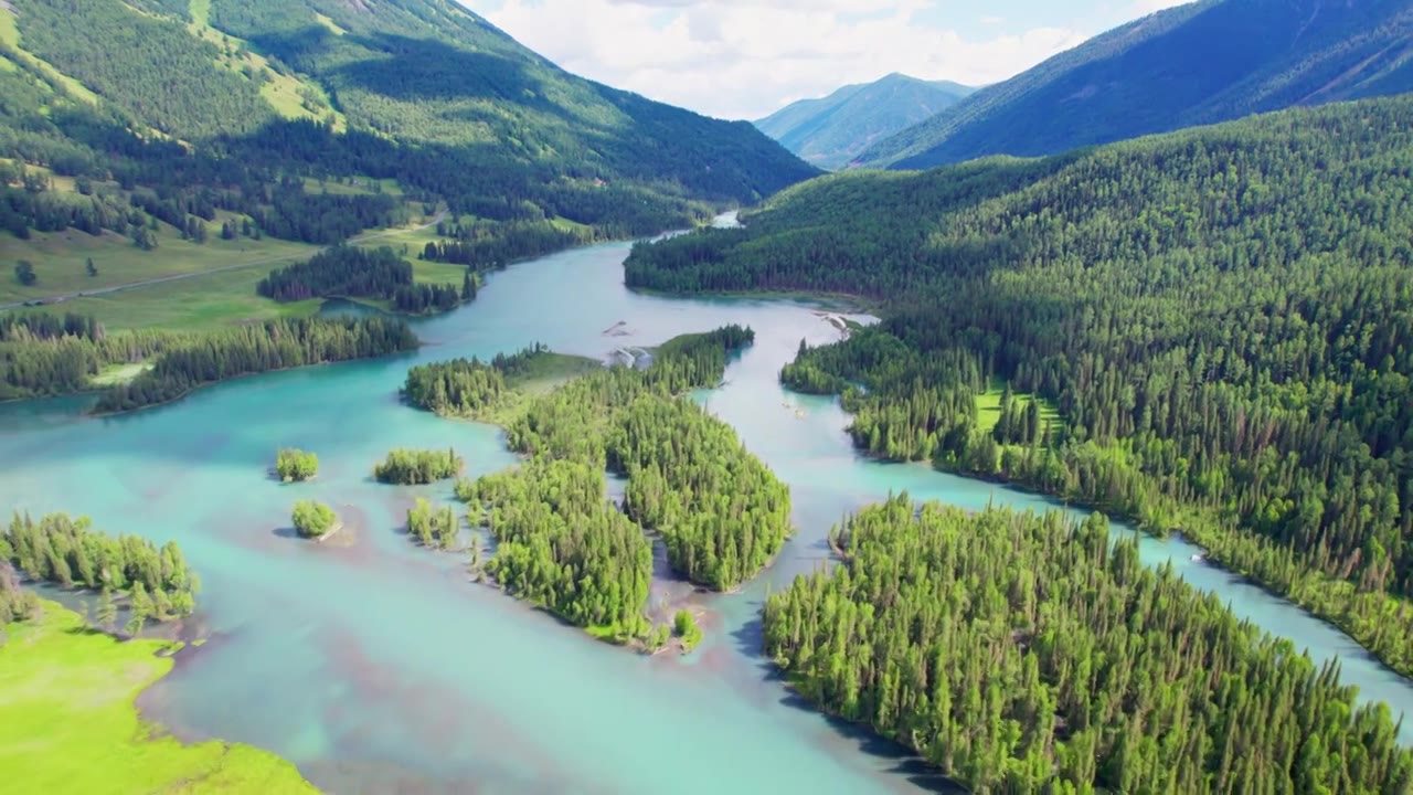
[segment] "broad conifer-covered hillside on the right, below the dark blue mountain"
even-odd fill
[[[1392,98],[835,174],[637,246],[627,282],[879,300],[879,328],[783,373],[842,390],[859,447],[1181,530],[1407,673],[1410,117]]]

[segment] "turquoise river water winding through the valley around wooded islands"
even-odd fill
[[[622,284],[626,245],[567,252],[492,276],[479,300],[418,324],[415,355],[274,373],[203,389],[178,405],[81,419],[79,400],[0,409],[0,509],[83,512],[109,530],[177,539],[205,590],[187,634],[209,635],[143,695],[185,738],[270,748],[314,782],[348,792],[911,792],[942,782],[883,741],[797,703],[757,655],[767,587],[821,566],[829,525],[907,489],[968,508],[1043,509],[1040,498],[926,467],[859,458],[831,400],[790,395],[776,376],[801,338],[838,332],[815,307],[668,300]],[[626,335],[605,335],[619,321]],[[418,495],[449,487],[373,484],[398,446],[462,453],[472,474],[513,463],[497,429],[398,405],[408,365],[487,356],[531,341],[606,356],[723,323],[756,330],[728,383],[698,395],[787,482],[798,535],[740,594],[660,583],[654,604],[706,611],[688,658],[637,656],[466,580],[461,557],[398,532]],[[317,482],[267,478],[274,451],[318,453]],[[295,499],[329,502],[350,546],[290,538]],[[1413,686],[1349,638],[1201,562],[1180,540],[1143,542],[1267,629],[1338,656],[1344,678],[1395,712]]]

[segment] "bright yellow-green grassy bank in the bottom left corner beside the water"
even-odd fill
[[[317,792],[250,745],[184,745],[144,724],[133,700],[172,668],[162,641],[119,642],[45,601],[0,646],[0,770],[7,792]]]

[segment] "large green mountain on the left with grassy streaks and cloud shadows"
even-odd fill
[[[168,224],[229,211],[326,242],[352,222],[322,219],[353,202],[295,181],[366,177],[445,201],[478,238],[560,236],[545,248],[817,174],[746,122],[571,75],[452,0],[11,0],[0,98],[0,158],[123,191],[102,211],[31,191],[0,202],[11,229],[78,214],[122,232],[114,214],[144,202]]]

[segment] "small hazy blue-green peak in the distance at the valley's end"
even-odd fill
[[[793,102],[755,122],[786,149],[821,168],[841,168],[870,144],[916,124],[976,89],[893,72],[829,96]]]

